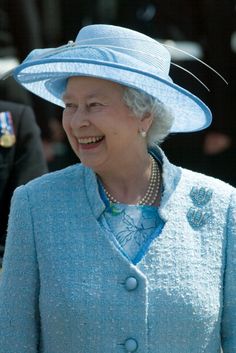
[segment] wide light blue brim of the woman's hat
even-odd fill
[[[62,95],[71,76],[88,76],[117,82],[158,98],[174,115],[171,133],[194,132],[212,121],[209,108],[195,95],[159,75],[107,62],[51,59],[25,62],[14,71],[21,85],[43,99],[64,107]]]

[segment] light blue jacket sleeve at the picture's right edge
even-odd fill
[[[236,353],[236,193],[229,208],[227,230],[222,347],[224,353]]]

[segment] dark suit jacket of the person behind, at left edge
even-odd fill
[[[33,110],[26,105],[0,101],[0,112],[10,111],[16,143],[0,146],[0,245],[5,243],[10,200],[14,189],[47,172],[40,130]],[[1,256],[1,254],[0,254]]]

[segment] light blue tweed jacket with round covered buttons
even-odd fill
[[[165,226],[137,265],[101,229],[83,165],[17,189],[1,353],[236,353],[236,197],[163,158]]]

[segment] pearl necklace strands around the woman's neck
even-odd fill
[[[148,189],[146,191],[146,194],[143,196],[143,198],[141,200],[139,200],[137,202],[136,205],[153,205],[157,199],[157,195],[160,190],[161,174],[160,174],[159,166],[158,166],[158,163],[156,162],[156,160],[152,156],[150,156],[150,157],[151,157],[152,166],[151,166],[151,177],[149,180]],[[105,188],[104,185],[103,185],[103,189],[104,189],[105,194],[110,202],[120,203],[119,201],[117,201],[115,199],[114,196],[112,196],[107,191],[107,189]]]

